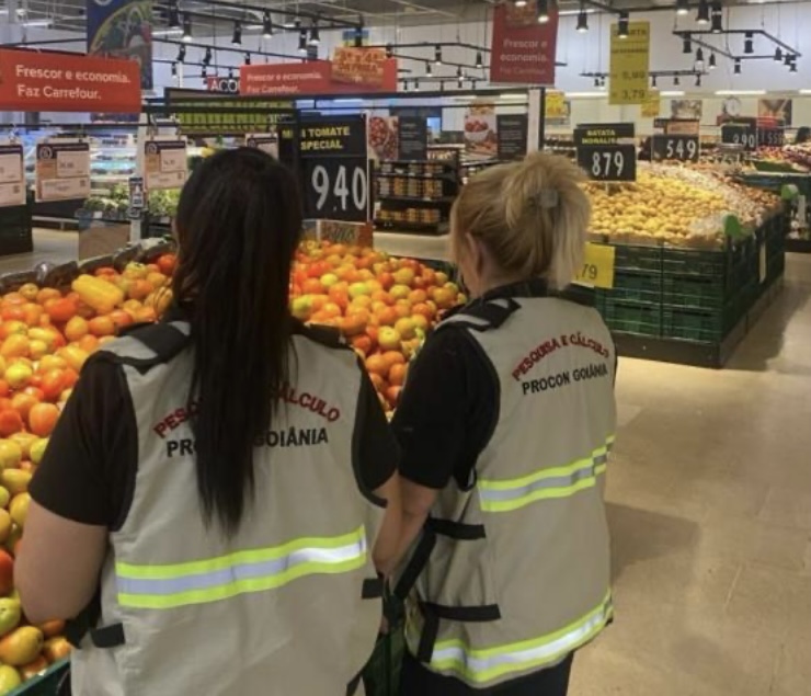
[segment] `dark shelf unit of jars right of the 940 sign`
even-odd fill
[[[378,229],[444,235],[459,193],[459,153],[448,159],[387,160],[375,171]]]

